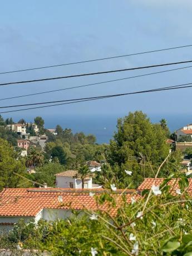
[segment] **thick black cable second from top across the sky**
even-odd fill
[[[163,64],[157,64],[157,65],[151,65],[151,66],[123,68],[121,70],[110,70],[110,71],[101,71],[101,72],[93,72],[93,73],[83,73],[83,74],[77,74],[77,75],[71,75],[71,76],[58,76],[58,77],[50,77],[50,78],[41,78],[41,79],[36,79],[36,80],[26,80],[26,81],[18,81],[18,82],[0,83],[0,86],[13,85],[13,84],[17,84],[17,83],[41,82],[41,81],[57,80],[57,79],[63,79],[63,78],[81,77],[81,76],[101,75],[101,74],[106,74],[106,73],[115,73],[115,72],[130,71],[130,70],[141,70],[141,69],[144,69],[144,68],[163,67],[163,66],[177,65],[177,64],[183,64],[183,63],[189,63],[189,62],[192,62],[192,60],[190,60],[190,61],[180,61],[180,62],[171,62],[171,63],[163,63]]]

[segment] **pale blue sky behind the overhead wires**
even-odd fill
[[[57,65],[192,44],[190,0],[3,1],[0,8],[0,72]],[[80,65],[0,75],[0,83],[75,75],[159,63],[192,60],[192,47]],[[175,67],[189,66],[189,64]],[[168,70],[156,67],[98,76],[0,87],[0,99]],[[148,90],[192,82],[191,69],[0,101],[0,106],[30,104]],[[2,114],[14,119],[43,116],[190,115],[192,88],[144,93]],[[7,109],[6,109],[7,110]],[[2,112],[1,110],[0,112]],[[191,118],[192,119],[192,118]]]

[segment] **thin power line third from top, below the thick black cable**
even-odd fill
[[[2,101],[2,100],[10,100],[10,99],[17,99],[17,98],[27,97],[27,96],[40,95],[40,94],[50,93],[50,92],[65,91],[65,90],[70,90],[70,89],[75,89],[75,88],[81,88],[81,87],[87,87],[87,86],[92,86],[92,85],[100,85],[100,84],[102,84],[102,83],[109,83],[109,82],[122,81],[122,80],[130,79],[130,78],[136,78],[136,77],[142,77],[142,76],[155,75],[155,74],[158,74],[158,73],[170,72],[170,71],[175,71],[175,70],[183,70],[184,68],[189,68],[189,67],[192,67],[192,66],[173,68],[173,69],[171,69],[171,70],[164,70],[164,71],[159,71],[159,72],[146,73],[146,74],[144,74],[144,75],[130,76],[130,77],[125,77],[125,78],[120,78],[120,79],[115,79],[115,80],[108,80],[108,81],[104,81],[104,82],[88,83],[87,85],[72,86],[72,87],[67,87],[67,88],[58,89],[58,90],[50,90],[50,91],[44,91],[44,92],[36,92],[36,93],[31,93],[31,94],[13,96],[13,97],[8,97],[8,98],[0,99],[0,101]]]

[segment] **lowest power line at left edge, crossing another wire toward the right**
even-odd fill
[[[186,85],[186,86],[184,86],[184,85]],[[60,103],[60,104],[53,104],[53,105],[47,105],[47,106],[40,106],[40,107],[30,107],[30,108],[28,108],[28,109],[10,110],[10,111],[0,112],[0,114],[9,113],[9,112],[23,111],[23,110],[41,109],[41,108],[43,108],[43,107],[51,107],[51,106],[75,104],[75,103],[77,103],[77,102],[85,102],[85,101],[92,101],[92,100],[100,100],[100,99],[106,99],[106,98],[111,98],[111,97],[119,97],[119,96],[125,96],[125,95],[134,95],[134,94],[146,93],[146,92],[166,91],[166,90],[175,90],[175,89],[180,89],[180,88],[189,88],[189,87],[192,87],[192,83],[186,83],[186,84],[184,84],[184,85],[176,85],[176,86],[169,86],[169,87],[161,87],[161,88],[156,88],[156,89],[152,89],[152,90],[128,92],[128,93],[121,93],[121,94],[116,94],[116,95],[106,95],[106,96],[89,97],[89,98],[84,98],[85,100],[78,100],[78,101],[73,101],[73,100],[71,100],[72,102],[66,102],[66,103]],[[63,100],[63,101],[69,101],[69,100]],[[63,101],[62,101],[62,102],[63,102]],[[57,101],[57,102],[59,102],[59,101]],[[61,101],[60,101],[60,102],[61,102]],[[45,104],[45,103],[44,103],[44,104]],[[10,107],[11,107],[11,106],[10,106]]]

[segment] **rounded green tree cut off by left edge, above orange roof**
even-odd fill
[[[8,141],[0,139],[0,189],[4,187],[16,188],[23,174],[24,163],[19,159],[19,154],[9,145]]]

